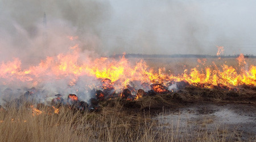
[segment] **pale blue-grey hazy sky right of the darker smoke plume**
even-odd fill
[[[110,53],[256,53],[255,1],[110,1],[102,30]]]

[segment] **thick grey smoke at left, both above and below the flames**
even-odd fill
[[[110,12],[105,1],[0,1],[0,61],[8,64],[18,58],[22,68],[29,68],[47,57],[57,60],[60,53],[72,53],[70,48],[75,45],[80,48],[79,60],[99,57],[99,26],[109,19]],[[69,39],[71,36],[73,40]],[[85,86],[92,84],[92,78],[76,78],[76,85],[69,86],[72,76],[59,80],[53,74],[46,77],[36,82],[40,102],[57,93],[75,93],[81,99],[89,99]],[[3,99],[18,97],[35,86],[33,82],[1,81]]]

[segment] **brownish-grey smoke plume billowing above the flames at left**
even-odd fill
[[[82,51],[98,51],[98,26],[110,16],[104,1],[0,1],[1,60],[40,61],[67,51],[79,36]],[[46,27],[43,23],[46,12]]]

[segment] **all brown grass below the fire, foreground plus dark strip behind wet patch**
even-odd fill
[[[34,114],[29,103],[0,107],[1,141],[240,141],[241,133],[229,130],[184,132],[166,127],[155,116],[176,111],[192,103],[250,103],[255,107],[255,87],[239,90],[206,89],[187,86],[175,93],[152,94],[135,101],[126,98],[102,99],[100,111],[89,112],[59,106],[59,114],[49,105],[36,105],[42,111]],[[201,114],[211,114],[204,111]],[[175,125],[175,124],[174,124]],[[226,133],[233,133],[227,137]],[[239,134],[239,135],[238,135]],[[249,141],[253,139],[249,139]],[[255,139],[254,139],[255,140]]]

